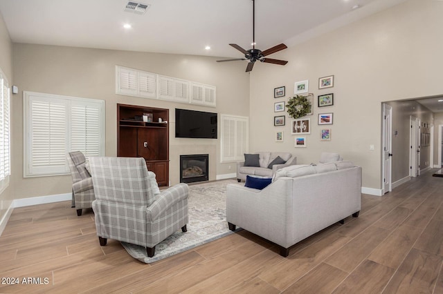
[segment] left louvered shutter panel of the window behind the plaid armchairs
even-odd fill
[[[66,172],[67,105],[64,101],[30,99],[30,172],[34,175]]]

